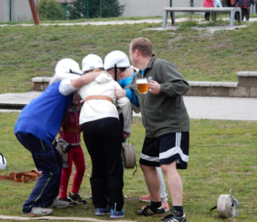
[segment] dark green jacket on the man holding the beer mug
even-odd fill
[[[135,81],[142,78],[142,71],[135,74],[128,86],[138,96],[146,136],[156,138],[167,133],[188,132],[190,119],[183,102],[183,94],[190,89],[188,82],[172,62],[155,55],[144,69],[143,77],[149,76],[160,84],[160,94],[138,93]]]

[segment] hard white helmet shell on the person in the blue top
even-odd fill
[[[82,75],[78,62],[71,58],[63,58],[56,65],[56,74],[78,74]]]

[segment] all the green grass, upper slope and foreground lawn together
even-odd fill
[[[209,33],[206,29],[199,31],[190,27],[228,26],[229,20],[199,24],[194,17],[188,22],[177,23],[179,28],[176,30],[165,31],[146,30],[161,27],[161,24],[0,27],[0,94],[30,91],[31,78],[52,76],[61,58],[73,58],[81,64],[88,53],[104,58],[110,51],[122,50],[128,55],[129,43],[140,36],[148,37],[153,42],[154,53],[172,61],[187,80],[237,82],[238,71],[257,70],[256,22],[233,31]],[[13,134],[17,116],[17,113],[0,112],[0,153],[7,160],[1,175],[8,175],[11,170],[35,169],[31,153]],[[257,221],[256,128],[254,121],[191,119],[190,160],[188,169],[180,171],[187,221],[226,221],[219,219],[217,212],[214,211],[212,216],[208,212],[216,205],[219,195],[228,194],[230,189],[240,201],[240,215],[230,221]],[[130,142],[135,146],[137,161],[143,140],[141,119],[134,118]],[[88,204],[54,210],[52,216],[94,217],[89,182],[92,165],[85,146],[83,151],[87,169],[80,194],[85,196]],[[22,203],[34,185],[35,182],[23,184],[0,180],[0,214],[21,216]],[[138,198],[145,194],[148,191],[142,171],[138,169],[133,176],[133,170],[126,169],[124,210],[127,221],[160,221],[162,216],[136,216],[135,212],[144,205]],[[101,219],[108,220],[108,216]]]

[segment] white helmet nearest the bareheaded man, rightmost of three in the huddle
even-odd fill
[[[111,51],[108,53],[106,58],[104,58],[104,69],[108,70],[110,68],[122,68],[122,67],[130,67],[130,63],[128,60],[128,56],[123,51]]]

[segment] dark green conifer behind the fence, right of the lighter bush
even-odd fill
[[[88,11],[87,3],[89,6]],[[125,6],[119,5],[119,0],[74,0],[67,7],[68,18],[81,19],[89,17],[92,19],[98,17],[119,17],[124,12]]]

